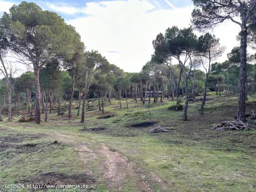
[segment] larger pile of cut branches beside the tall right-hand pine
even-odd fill
[[[231,129],[236,130],[254,130],[256,131],[256,126],[250,125],[248,123],[243,123],[242,121],[224,121],[214,126],[213,129],[217,131],[226,131]]]

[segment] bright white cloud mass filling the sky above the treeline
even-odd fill
[[[127,72],[139,72],[154,53],[152,40],[156,35],[164,33],[169,26],[188,27],[192,10],[193,6],[155,10],[147,0],[90,2],[84,9],[90,16],[67,22],[76,27],[88,50],[99,50]],[[238,32],[239,27],[232,22],[214,29],[213,33],[227,47],[221,61],[237,45]]]

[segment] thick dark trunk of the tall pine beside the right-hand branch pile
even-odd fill
[[[247,48],[247,28],[243,27],[241,31],[240,46],[240,73],[238,85],[238,105],[237,105],[237,121],[245,121],[245,99],[246,99],[246,48]]]

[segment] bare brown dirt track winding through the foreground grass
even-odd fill
[[[120,192],[129,186],[135,186],[138,192],[153,192],[141,175],[135,172],[132,163],[128,162],[128,159],[119,152],[111,151],[105,144],[102,144],[99,150],[92,151],[85,142],[79,141],[75,136],[60,132],[55,133],[52,136],[54,139],[74,146],[74,151],[78,152],[85,172],[90,175],[93,173],[88,170],[88,160],[104,158],[103,163],[99,165],[99,169],[111,192]],[[130,184],[129,180],[131,180]]]

